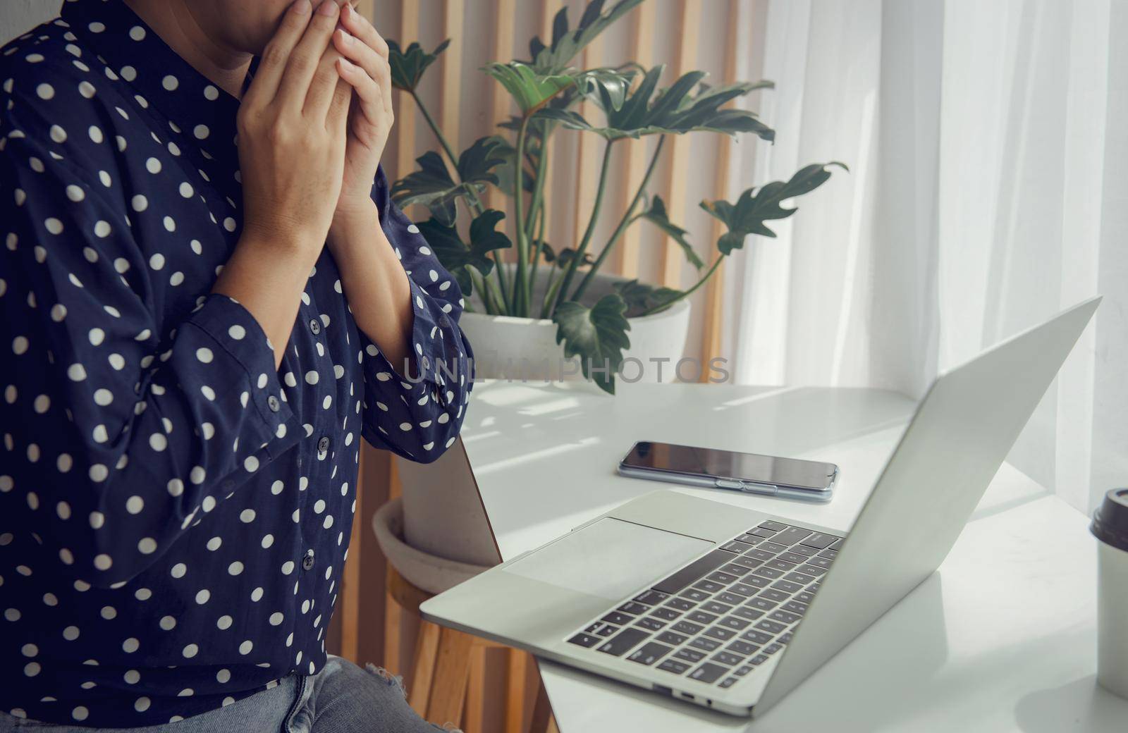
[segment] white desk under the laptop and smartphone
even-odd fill
[[[610,398],[583,385],[493,382],[475,387],[462,438],[510,558],[672,488],[615,474],[635,440],[836,462],[841,476],[827,505],[708,496],[845,530],[913,408],[862,389],[620,385]],[[541,662],[545,687],[563,733],[1122,733],[1128,701],[1094,683],[1086,523],[1004,465],[940,571],[751,724]]]

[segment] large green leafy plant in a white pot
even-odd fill
[[[688,295],[716,272],[724,257],[743,246],[748,235],[774,237],[766,222],[795,212],[784,202],[820,186],[830,177],[830,166],[845,168],[834,162],[810,165],[787,182],[748,188],[734,202],[702,201],[700,206],[728,230],[716,241],[716,255],[706,267],[686,230],[669,220],[664,202],[656,195],[647,197],[647,185],[669,135],[702,131],[750,133],[773,140],[774,131],[755,113],[724,107],[755,89],[770,88],[772,82],[711,87],[704,82],[705,72],[691,71],[660,89],[662,65],[572,65],[585,45],[642,1],[619,0],[605,9],[605,0],[592,0],[575,28],[570,27],[567,9],[562,9],[555,17],[550,43],[539,37],[530,42],[530,60],[484,67],[482,71],[513,97],[519,114],[500,122],[501,132],[476,140],[461,153],[451,149],[416,91],[447,42],[430,53],[417,43],[405,48],[388,42],[393,85],[415,99],[441,150],[421,156],[418,169],[395,182],[393,197],[400,206],[421,204],[430,211],[430,219],[418,228],[467,299],[462,328],[475,346],[475,365],[482,376],[510,376],[490,372],[504,372],[506,363],[518,364],[522,357],[549,366],[562,363],[562,356],[576,357],[585,377],[614,394],[615,373],[625,353],[631,353],[633,341],[649,344],[651,351],[666,348],[658,355],[677,359],[689,323]],[[574,109],[581,99],[599,111],[598,121]],[[599,135],[605,142],[594,203],[583,235],[574,246],[554,249],[545,240],[544,184],[549,164],[543,151],[561,129]],[[659,140],[642,183],[626,211],[610,212],[605,194],[611,151],[623,140],[644,135],[658,135]],[[512,197],[512,238],[499,229],[505,214],[483,203],[491,186]],[[617,223],[593,255],[593,233],[605,215],[615,217]],[[699,275],[691,286],[654,286],[600,272],[624,231],[640,221],[659,227],[680,245]],[[501,257],[505,250],[513,251],[513,262],[508,265]],[[483,362],[484,353],[497,350],[503,352],[496,362],[500,366],[491,365],[492,360]]]

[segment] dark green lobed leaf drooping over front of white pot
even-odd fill
[[[615,372],[623,363],[623,350],[631,346],[631,324],[623,316],[627,304],[617,293],[599,299],[591,308],[574,300],[556,308],[556,343],[564,344],[564,355],[580,357],[583,376],[600,389],[615,394]],[[594,369],[592,369],[594,368]]]

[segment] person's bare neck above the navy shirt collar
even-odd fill
[[[203,14],[185,0],[124,0],[193,69],[232,97],[243,94],[252,54],[224,45]]]

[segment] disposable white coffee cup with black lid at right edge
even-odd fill
[[[1113,488],[1093,515],[1096,547],[1096,681],[1128,699],[1128,488]]]

